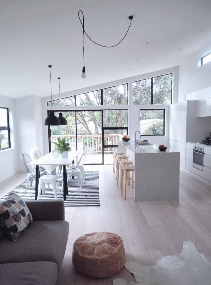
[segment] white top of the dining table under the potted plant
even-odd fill
[[[80,150],[72,150],[69,152],[68,157],[60,158],[54,157],[51,153],[30,162],[28,165],[69,165],[78,156]]]

